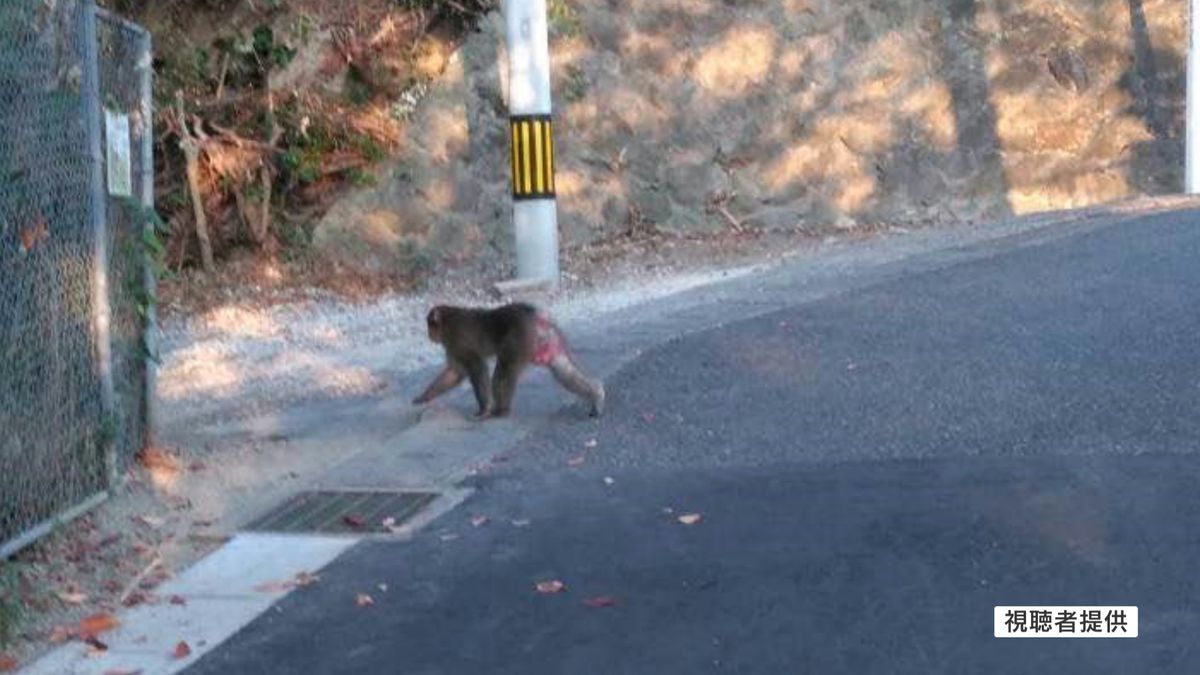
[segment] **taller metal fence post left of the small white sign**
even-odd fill
[[[101,450],[106,486],[116,484],[116,393],[113,387],[112,311],[108,305],[108,215],[104,195],[103,142],[100,120],[100,46],[96,38],[96,0],[80,6],[83,38],[83,109],[88,131],[89,214],[91,215],[91,310],[95,330],[96,375],[100,378]]]

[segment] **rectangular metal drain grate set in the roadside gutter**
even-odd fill
[[[318,490],[300,492],[251,522],[252,532],[386,533],[416,515],[437,492]],[[389,520],[390,519],[390,520]],[[388,525],[384,525],[384,522]]]

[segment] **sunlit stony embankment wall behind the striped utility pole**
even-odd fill
[[[1184,10],[551,2],[564,241],[950,223],[1177,191]],[[508,259],[504,68],[492,14],[418,106],[377,186],[316,228],[325,259]]]

